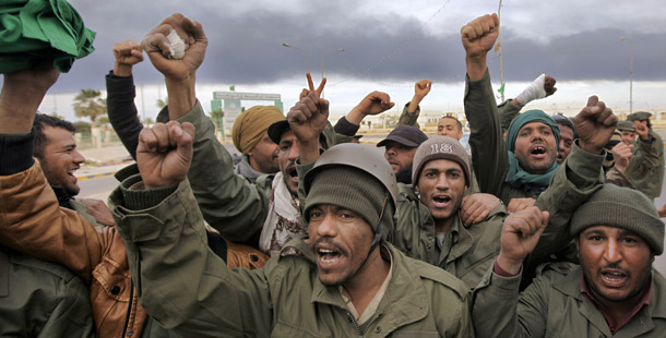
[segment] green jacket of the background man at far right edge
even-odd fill
[[[638,137],[625,177],[635,190],[644,193],[651,200],[662,195],[664,183],[664,141],[654,131],[650,131],[650,140]]]

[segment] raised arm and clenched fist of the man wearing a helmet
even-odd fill
[[[186,180],[193,135],[187,122],[144,129],[136,150],[141,174],[123,181],[110,197],[140,302],[165,328],[185,337],[265,337],[273,304],[264,270],[228,270],[207,246]]]

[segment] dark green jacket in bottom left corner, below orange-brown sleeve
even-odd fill
[[[60,265],[0,246],[0,337],[95,337],[87,288]]]

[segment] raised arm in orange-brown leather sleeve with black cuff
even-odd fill
[[[88,285],[110,228],[61,208],[33,153],[33,119],[58,79],[51,65],[9,73],[0,94],[0,243],[59,263]]]

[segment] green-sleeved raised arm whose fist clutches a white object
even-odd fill
[[[171,29],[181,32],[191,41],[182,59],[168,58],[167,35]],[[175,14],[151,31],[143,46],[146,51],[151,50],[151,62],[164,74],[169,92],[169,106],[159,112],[157,121],[190,122],[195,126],[188,178],[205,220],[229,241],[252,241],[265,220],[271,186],[251,184],[234,173],[231,156],[215,137],[213,122],[191,90],[207,46],[201,24]],[[193,106],[189,107],[190,102]]]

